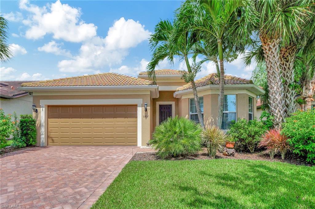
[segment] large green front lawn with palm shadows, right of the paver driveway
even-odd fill
[[[315,167],[230,159],[132,161],[92,208],[315,208]]]

